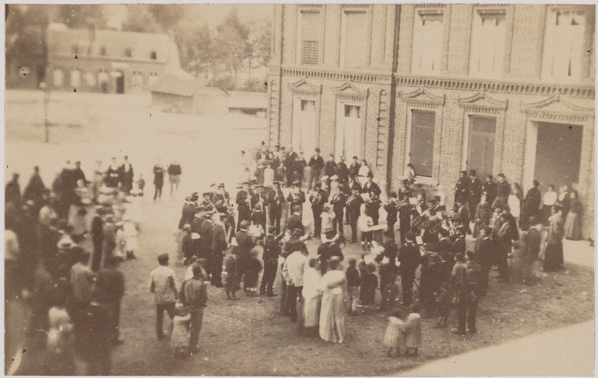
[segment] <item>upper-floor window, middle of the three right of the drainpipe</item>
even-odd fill
[[[471,32],[469,74],[501,75],[505,54],[505,11],[478,10]]]

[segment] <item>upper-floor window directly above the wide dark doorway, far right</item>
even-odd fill
[[[542,56],[543,78],[580,77],[584,28],[584,11],[548,9]]]

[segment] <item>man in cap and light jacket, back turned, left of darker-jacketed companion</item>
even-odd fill
[[[149,292],[154,294],[155,300],[155,333],[158,340],[164,339],[162,319],[164,310],[170,316],[175,316],[175,301],[177,297],[175,271],[168,267],[168,254],[158,256],[158,266],[149,274]]]

